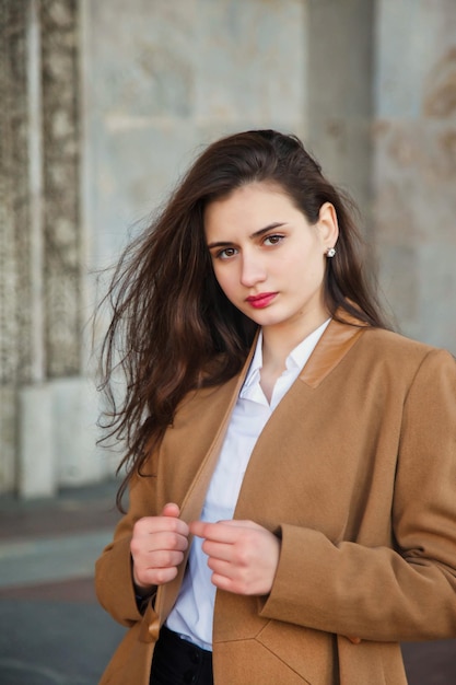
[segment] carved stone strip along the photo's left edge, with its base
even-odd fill
[[[32,361],[27,10],[0,1],[0,491],[16,480],[17,387]]]

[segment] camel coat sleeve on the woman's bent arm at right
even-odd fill
[[[456,363],[426,355],[404,405],[394,548],[282,525],[264,617],[367,640],[456,636]]]

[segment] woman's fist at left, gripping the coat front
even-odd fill
[[[188,546],[188,525],[177,504],[165,504],[160,516],[144,516],[133,526],[130,552],[133,582],[140,594],[177,576]]]

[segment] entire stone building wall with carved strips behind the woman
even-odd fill
[[[201,146],[301,136],[406,334],[456,352],[454,0],[0,0],[0,492],[112,475],[91,315]]]

